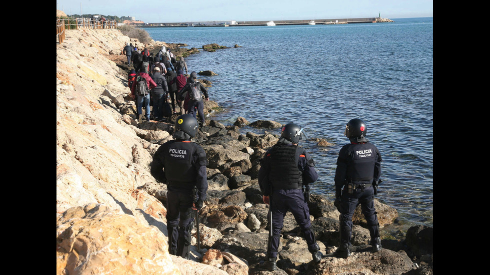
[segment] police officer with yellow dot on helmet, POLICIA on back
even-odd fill
[[[156,150],[150,172],[156,180],[167,184],[168,252],[189,259],[192,210],[199,210],[206,199],[206,154],[201,146],[190,141],[197,132],[197,121],[192,115],[180,115],[174,130],[174,139]]]

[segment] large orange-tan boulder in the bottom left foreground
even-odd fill
[[[179,271],[163,232],[121,210],[88,204],[69,208],[56,219],[56,274],[173,275]]]

